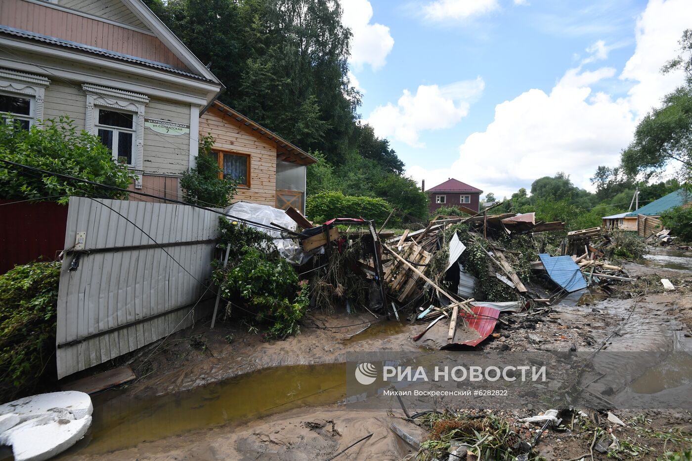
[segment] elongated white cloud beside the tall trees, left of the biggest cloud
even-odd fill
[[[421,132],[429,129],[450,128],[466,114],[475,98],[480,96],[485,82],[478,77],[443,87],[421,85],[415,94],[408,89],[397,101],[378,106],[372,111],[367,123],[380,137],[393,137],[411,146],[422,147]]]

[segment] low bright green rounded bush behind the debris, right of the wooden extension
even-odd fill
[[[307,215],[316,223],[335,217],[362,217],[383,223],[391,211],[392,206],[387,201],[376,197],[343,195],[334,191],[318,192],[307,197]]]

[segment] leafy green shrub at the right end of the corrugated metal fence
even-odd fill
[[[298,273],[279,254],[273,239],[244,224],[219,218],[221,246],[230,245],[228,265],[215,261],[212,280],[221,295],[253,314],[257,323],[269,323],[267,336],[285,338],[298,334],[298,320],[309,304],[307,282],[299,282]],[[226,314],[234,305],[226,305]]]

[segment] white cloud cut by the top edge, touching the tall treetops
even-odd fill
[[[353,33],[349,61],[356,69],[361,69],[365,64],[370,64],[374,71],[381,69],[394,46],[390,28],[370,24],[372,5],[368,0],[341,0],[341,7],[341,22]]]

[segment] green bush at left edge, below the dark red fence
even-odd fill
[[[15,266],[0,275],[0,401],[35,390],[54,371],[60,262]]]

